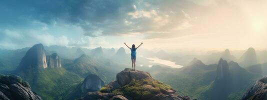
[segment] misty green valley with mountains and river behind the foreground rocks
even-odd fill
[[[21,59],[17,67],[1,69],[1,74],[20,76],[42,99],[74,99],[84,96],[86,92],[99,90],[116,80],[116,74],[125,67],[131,68],[128,64],[129,55],[123,47],[117,51],[101,47],[84,51],[68,48],[65,50],[72,54],[67,55],[60,52],[62,47],[51,47],[53,51],[49,50],[49,46],[35,44],[25,48],[25,51],[19,51],[24,56],[15,56],[17,58],[14,61]],[[17,50],[9,52],[15,53]],[[249,48],[242,56],[240,63],[244,66],[235,62],[236,58],[232,59],[230,51],[226,49],[214,64],[205,64],[194,57],[182,66],[157,57],[140,56],[136,68],[149,72],[154,79],[170,85],[176,93],[190,98],[240,99],[257,79],[266,75],[265,63],[243,63],[243,59],[247,61],[250,59],[246,58],[255,56],[254,52]],[[113,55],[104,56],[107,53]],[[11,59],[0,61],[8,60]],[[142,66],[138,66],[140,64]],[[4,62],[2,65],[8,64]]]

